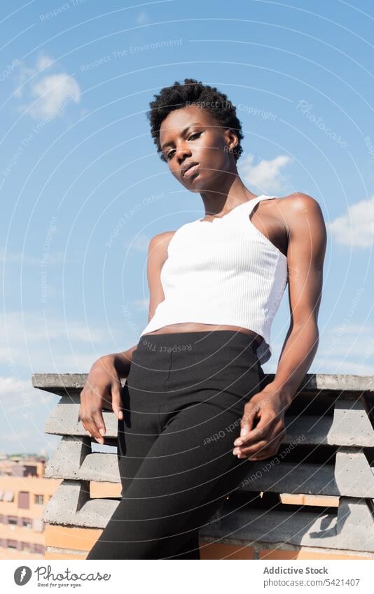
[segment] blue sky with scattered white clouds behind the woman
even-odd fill
[[[310,372],[373,373],[371,1],[16,0],[0,11],[0,451],[53,451],[44,423],[57,397],[32,374],[88,372],[137,344],[149,240],[204,213],[146,119],[153,94],[186,77],[237,106],[247,188],[321,205]],[[265,372],[288,327],[285,293]]]

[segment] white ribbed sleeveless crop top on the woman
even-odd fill
[[[248,328],[263,337],[261,364],[270,359],[270,329],[288,281],[287,258],[249,219],[261,195],[211,221],[188,222],[167,248],[160,280],[165,299],[141,332],[195,322]]]

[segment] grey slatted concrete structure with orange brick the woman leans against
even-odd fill
[[[43,513],[49,559],[85,559],[120,500],[116,417],[104,409],[108,451],[78,422],[86,377],[32,376],[57,397],[45,430],[61,436],[45,475],[62,479]],[[373,559],[373,416],[374,376],[307,374],[277,455],[251,465],[200,530],[201,558]]]

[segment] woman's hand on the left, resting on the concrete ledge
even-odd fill
[[[103,406],[111,407],[119,420],[123,419],[121,410],[120,376],[114,365],[112,355],[104,355],[92,365],[85,386],[81,391],[81,406],[79,406],[78,420],[91,437],[95,437],[99,444],[104,444],[103,435],[106,432]]]

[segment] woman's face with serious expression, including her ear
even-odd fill
[[[236,171],[228,151],[236,144],[235,133],[198,106],[175,109],[160,126],[160,146],[169,169],[191,192],[216,188],[222,176]],[[198,165],[188,172],[192,163]]]

